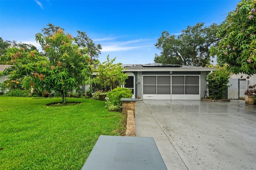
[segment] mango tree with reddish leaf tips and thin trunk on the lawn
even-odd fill
[[[36,41],[44,49],[49,62],[36,70],[35,84],[60,92],[62,102],[66,103],[68,91],[83,85],[90,75],[88,50],[74,44],[72,36],[64,34],[63,30],[57,30],[52,36],[38,33]]]

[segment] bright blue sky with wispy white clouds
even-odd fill
[[[100,61],[154,63],[163,31],[178,35],[187,26],[220,24],[239,0],[0,0],[0,37],[36,44],[35,34],[46,24],[73,36],[86,32],[102,45]]]

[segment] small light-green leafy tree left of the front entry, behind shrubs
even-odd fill
[[[107,56],[107,61],[98,64],[98,68],[94,71],[96,72],[95,82],[102,87],[104,91],[110,91],[116,87],[121,87],[124,85],[125,80],[128,78],[128,75],[125,74],[122,70],[122,63],[115,64],[114,59],[109,59]]]

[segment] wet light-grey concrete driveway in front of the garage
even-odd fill
[[[169,170],[256,170],[256,108],[242,100],[138,100],[135,125]]]

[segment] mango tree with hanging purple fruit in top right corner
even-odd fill
[[[256,73],[256,0],[242,0],[220,25],[218,47],[212,47],[221,65],[233,73]]]

